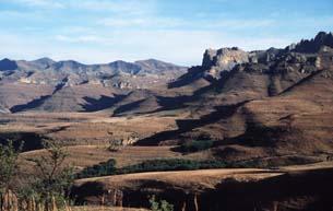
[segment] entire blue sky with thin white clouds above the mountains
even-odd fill
[[[0,58],[200,65],[333,31],[333,0],[0,0]]]

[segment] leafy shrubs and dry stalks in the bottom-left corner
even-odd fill
[[[17,184],[19,151],[13,141],[0,143],[0,210],[55,211],[67,208],[73,184],[72,167],[64,165],[68,154],[60,145],[45,142],[46,154],[34,160],[38,177]]]

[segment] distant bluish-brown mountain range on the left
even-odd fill
[[[186,70],[155,59],[90,66],[49,58],[3,59],[0,61],[0,112],[98,110],[110,107],[107,104],[120,96],[166,86]]]

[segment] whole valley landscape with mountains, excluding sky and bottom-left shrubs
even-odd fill
[[[59,144],[75,206],[147,209],[151,196],[176,211],[333,206],[332,33],[207,49],[191,68],[3,59],[0,79],[0,143],[21,146],[17,179],[38,176],[45,141]]]

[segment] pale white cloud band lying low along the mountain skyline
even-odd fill
[[[199,65],[206,48],[238,46],[246,50],[285,47],[292,43],[280,37],[234,37],[207,31],[131,31],[112,32],[105,36],[57,35],[26,37],[0,34],[0,57],[33,60],[51,57],[56,60],[74,59],[84,63],[110,62],[122,59],[134,61],[156,58],[179,65]],[[84,45],[94,44],[94,45]]]

